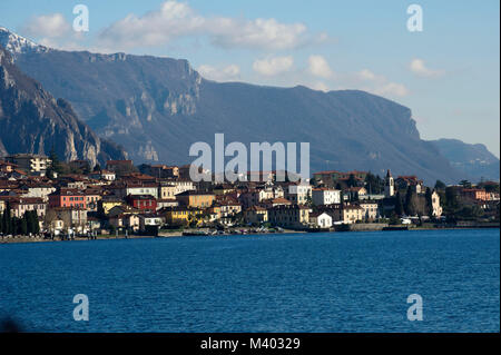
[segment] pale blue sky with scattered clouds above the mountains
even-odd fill
[[[73,7],[89,11],[75,31]],[[410,31],[411,4],[422,30]],[[2,0],[0,26],[48,47],[184,58],[217,81],[366,90],[423,139],[500,156],[498,0]],[[80,24],[82,22],[79,22]],[[415,23],[415,22],[413,22]]]

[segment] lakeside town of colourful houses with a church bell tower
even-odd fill
[[[291,231],[499,227],[499,181],[425,186],[416,176],[277,171],[194,183],[190,166],[0,160],[0,243]],[[258,175],[250,178],[253,174]]]

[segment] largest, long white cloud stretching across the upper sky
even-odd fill
[[[303,23],[281,23],[275,19],[234,19],[203,17],[187,3],[165,1],[160,9],[144,16],[128,14],[100,33],[104,46],[120,49],[155,47],[189,36],[208,36],[212,43],[224,48],[292,49],[326,40],[326,34],[312,36]]]

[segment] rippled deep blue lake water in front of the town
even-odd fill
[[[31,332],[499,332],[499,229],[0,245],[0,317]]]

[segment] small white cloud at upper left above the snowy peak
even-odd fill
[[[24,23],[22,32],[33,37],[60,38],[70,36],[71,26],[61,13],[42,14]]]

